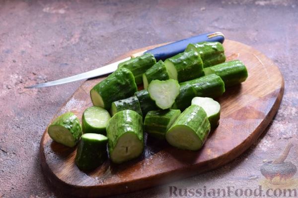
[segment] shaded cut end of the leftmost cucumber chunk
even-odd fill
[[[48,134],[55,142],[63,144],[67,147],[74,147],[76,145],[76,141],[72,133],[61,125],[49,126]]]

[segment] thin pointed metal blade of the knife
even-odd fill
[[[37,85],[28,86],[28,87],[25,87],[25,88],[31,89],[31,88],[51,87],[51,86],[55,86],[55,85],[61,85],[61,84],[70,83],[70,82],[74,82],[74,81],[78,81],[78,80],[83,80],[83,79],[88,79],[88,78],[93,78],[93,77],[109,74],[109,73],[112,73],[113,71],[115,71],[117,69],[117,66],[120,62],[129,60],[129,59],[130,59],[130,57],[127,57],[127,58],[124,58],[124,59],[119,60],[117,62],[113,62],[111,64],[108,64],[106,66],[99,67],[97,69],[93,69],[91,71],[87,71],[87,72],[84,72],[84,73],[81,73],[81,74],[77,74],[77,75],[74,75],[74,76],[70,76],[70,77],[67,77],[67,78],[63,78],[63,79],[59,79],[59,80],[55,80],[55,81],[51,81],[51,82],[46,82],[46,83],[41,83],[41,84],[37,84]]]

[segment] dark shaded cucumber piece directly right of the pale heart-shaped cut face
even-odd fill
[[[191,100],[197,96],[195,88],[189,84],[180,85],[180,93],[175,99],[172,109],[184,111],[191,105]]]

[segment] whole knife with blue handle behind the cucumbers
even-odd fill
[[[224,34],[221,32],[212,32],[212,33],[201,34],[201,35],[197,35],[194,37],[190,37],[188,39],[176,41],[176,42],[173,42],[173,43],[170,43],[170,44],[158,47],[158,48],[149,49],[147,51],[142,51],[142,52],[139,52],[136,54],[132,54],[132,57],[142,55],[144,53],[152,53],[154,55],[156,61],[165,60],[168,57],[171,57],[178,53],[183,52],[188,44],[191,44],[191,43],[194,44],[194,43],[199,43],[199,42],[204,42],[204,41],[224,43]],[[117,62],[113,62],[111,64],[108,64],[103,67],[99,67],[97,69],[87,71],[87,72],[84,72],[81,74],[77,74],[74,76],[70,76],[70,77],[55,80],[55,81],[32,85],[32,86],[28,86],[25,88],[51,87],[51,86],[61,85],[61,84],[70,83],[70,82],[74,82],[74,81],[78,81],[78,80],[102,76],[105,74],[112,73],[113,71],[115,71],[117,69],[119,63],[129,60],[130,58],[131,57],[127,57],[127,58],[124,58]]]

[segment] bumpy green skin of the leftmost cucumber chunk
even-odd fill
[[[65,145],[61,142],[59,142],[59,143],[65,145],[67,147],[74,147],[82,135],[82,128],[79,123],[79,119],[76,117],[76,115],[74,115],[73,112],[67,112],[67,113],[60,115],[51,123],[51,125],[48,128],[48,132],[49,132],[49,130],[51,131],[51,127],[55,126],[55,125],[65,127],[66,129],[68,129],[71,132],[71,134],[74,137],[73,145]],[[51,133],[48,133],[48,134],[51,137]]]

